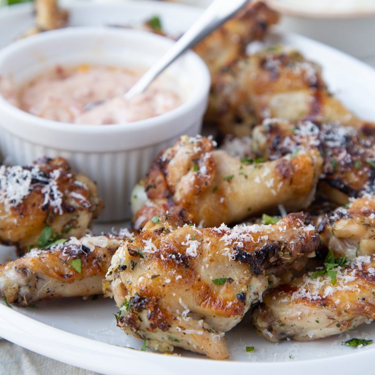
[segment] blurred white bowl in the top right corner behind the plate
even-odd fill
[[[280,28],[329,44],[362,60],[375,57],[374,0],[267,0]]]

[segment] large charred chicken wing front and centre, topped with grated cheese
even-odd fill
[[[176,215],[154,218],[120,246],[106,275],[118,325],[155,350],[228,358],[224,333],[277,283],[273,273],[314,256],[319,237],[303,219],[197,229]]]

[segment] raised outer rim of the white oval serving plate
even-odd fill
[[[146,4],[152,4],[154,6],[154,9],[156,11],[158,9],[164,8],[164,7],[175,7],[175,8],[189,8],[196,9],[197,13],[202,12],[202,8],[197,8],[191,5],[186,4],[173,4],[173,3],[162,3],[162,2],[154,2],[150,0],[140,0],[137,1],[137,3],[130,1],[131,6],[137,6],[139,8],[146,6]],[[124,3],[92,3],[90,0],[83,0],[80,3],[75,3],[74,0],[70,1],[63,1],[63,6],[66,7],[85,7],[90,4],[90,6],[128,6],[129,2]],[[24,12],[30,12],[32,11],[32,4],[30,3],[24,3],[19,5],[13,5],[12,8],[14,9],[14,12],[23,14]],[[2,17],[6,17],[9,14],[12,14],[13,9],[5,9],[5,11],[0,10],[0,20]],[[308,42],[310,44],[315,44],[316,46],[319,46],[319,48],[324,48],[325,51],[329,51],[330,53],[334,53],[336,56],[340,58],[345,58],[348,62],[355,63],[356,65],[361,65],[362,69],[366,69],[371,71],[371,73],[375,76],[374,69],[366,64],[365,62],[361,62],[358,59],[348,55],[345,52],[339,51],[331,46],[328,46],[322,42],[314,41],[310,38],[303,37],[297,34],[293,33],[273,33],[273,35],[280,34],[283,37],[287,38],[290,41],[293,40],[299,40],[300,42]],[[12,341],[26,349],[29,349],[33,352],[46,355],[50,358],[59,360],[61,362],[77,366],[80,368],[84,368],[86,370],[94,371],[94,372],[101,372],[103,374],[107,375],[116,375],[123,373],[122,371],[119,372],[119,368],[117,366],[111,366],[110,363],[108,363],[108,358],[121,358],[124,359],[130,359],[131,361],[126,364],[126,372],[130,373],[130,370],[134,374],[144,374],[145,368],[148,367],[149,369],[152,369],[152,371],[155,372],[155,366],[158,366],[158,368],[163,370],[163,374],[176,374],[176,366],[180,366],[181,369],[178,371],[179,374],[191,374],[191,370],[196,370],[198,373],[202,371],[202,365],[209,367],[210,371],[215,371],[216,375],[220,374],[228,374],[228,370],[277,370],[280,374],[297,374],[301,370],[305,372],[305,375],[308,374],[316,374],[316,368],[313,365],[319,364],[325,364],[325,366],[332,366],[332,369],[337,370],[337,362],[340,362],[340,367],[345,366],[345,369],[347,371],[355,371],[357,370],[356,361],[353,361],[354,355],[355,359],[359,360],[367,360],[369,357],[369,352],[373,353],[375,351],[375,348],[367,347],[362,348],[360,352],[353,351],[352,353],[349,352],[342,352],[339,355],[331,356],[329,358],[315,358],[311,360],[294,360],[294,361],[257,361],[252,362],[249,361],[238,361],[238,360],[229,360],[229,361],[215,361],[208,359],[204,356],[200,358],[191,358],[191,357],[180,357],[175,355],[165,355],[165,354],[158,354],[153,352],[146,352],[141,353],[137,350],[124,350],[127,348],[118,347],[116,345],[107,344],[98,340],[94,340],[91,338],[87,338],[81,335],[77,335],[74,333],[70,333],[67,331],[64,331],[62,329],[58,329],[53,327],[52,325],[43,323],[41,321],[38,321],[30,316],[27,316],[21,312],[18,311],[18,308],[15,309],[9,309],[6,307],[3,303],[0,304],[0,332],[2,337],[5,339]],[[21,327],[21,328],[20,328]],[[22,331],[22,327],[24,330]],[[40,332],[45,333],[42,335],[42,338],[35,337],[35,335],[32,335],[30,332],[30,329],[33,328],[32,332]],[[20,334],[23,333],[23,334]],[[54,335],[55,333],[55,335]],[[56,335],[57,333],[57,335]],[[25,335],[27,335],[27,339],[30,339],[29,341],[25,341]],[[54,337],[56,336],[56,337]],[[51,337],[51,338],[50,338]],[[55,339],[59,343],[60,347],[51,347],[50,341],[51,339]],[[36,343],[36,339],[38,339],[38,343]],[[77,357],[69,357],[66,355],[66,348],[69,345],[72,345],[72,343],[82,343],[82,345],[79,346],[80,350],[82,351],[84,349],[84,352],[86,353],[83,361],[83,354],[79,358]],[[51,349],[52,348],[52,349]],[[88,351],[87,349],[88,348]],[[93,353],[94,352],[94,353]],[[95,355],[95,362],[92,360],[93,356]],[[146,357],[145,357],[146,355]],[[166,358],[168,357],[168,360]],[[88,360],[88,359],[91,359]],[[103,362],[103,364],[98,363],[99,359]],[[368,363],[365,364],[365,366],[368,366],[370,369],[371,367],[371,361],[367,361]],[[181,366],[186,364],[187,366]],[[311,366],[310,366],[311,365]],[[363,365],[363,363],[362,363]],[[102,366],[102,367],[101,367]],[[139,369],[139,366],[141,366],[141,371]],[[149,367],[151,366],[151,367]],[[129,371],[128,371],[129,370]],[[313,372],[310,372],[310,371]],[[328,371],[328,367],[326,368]],[[168,371],[168,372],[167,372]]]

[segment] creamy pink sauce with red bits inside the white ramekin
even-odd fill
[[[21,87],[17,106],[49,120],[105,125],[159,116],[181,104],[178,85],[167,77],[158,78],[145,93],[124,99],[122,95],[141,75],[141,72],[108,66],[57,66]],[[88,103],[104,100],[104,104],[85,109]]]

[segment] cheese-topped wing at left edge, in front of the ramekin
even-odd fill
[[[82,237],[102,206],[96,185],[65,159],[0,167],[0,242],[21,252],[38,244],[47,225],[60,237]]]

